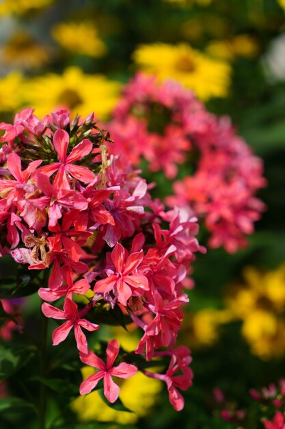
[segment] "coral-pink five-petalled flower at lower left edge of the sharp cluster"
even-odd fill
[[[52,317],[53,319],[67,321],[62,325],[56,328],[53,331],[53,345],[62,343],[68,336],[70,330],[74,327],[75,340],[77,342],[77,348],[80,352],[87,353],[87,340],[83,334],[81,327],[87,329],[88,331],[95,331],[100,328],[99,325],[91,323],[86,319],[81,319],[83,315],[89,310],[90,307],[83,308],[80,312],[77,310],[77,304],[75,304],[71,299],[66,298],[64,301],[64,310],[59,310],[59,308],[51,306],[51,304],[42,304],[42,312],[46,317]]]

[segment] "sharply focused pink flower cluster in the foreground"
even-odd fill
[[[138,171],[107,157],[109,134],[93,114],[70,121],[60,110],[40,121],[27,108],[0,129],[0,254],[47,273],[46,284],[38,282],[42,312],[64,321],[53,344],[74,330],[82,362],[98,369],[82,382],[81,393],[103,379],[105,396],[114,402],[120,389],[112,376],[144,371],[136,354],[148,361],[169,356],[165,374],[147,375],[165,381],[180,410],[177,388],[187,389],[193,374],[189,350],[175,345],[181,307],[189,301],[183,292],[189,265],[195,252],[204,252],[195,238],[197,219],[178,208],[165,211]],[[76,302],[74,294],[87,292],[88,304]],[[84,331],[100,328],[96,314],[106,308],[109,314],[119,309],[143,330],[131,363],[119,356],[116,364],[116,340],[107,345],[107,363],[88,349]]]

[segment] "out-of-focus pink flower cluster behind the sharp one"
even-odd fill
[[[245,247],[245,236],[264,210],[255,195],[266,181],[262,161],[235,134],[228,117],[208,112],[177,82],[158,84],[154,76],[139,73],[124,88],[108,127],[116,140],[109,149],[121,162],[139,165],[146,159],[150,171],[163,170],[171,180],[178,164],[185,164],[189,173],[174,182],[175,195],[167,204],[204,219],[210,247],[230,253]]]

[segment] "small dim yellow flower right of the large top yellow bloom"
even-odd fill
[[[218,40],[211,42],[207,52],[216,58],[233,60],[236,56],[243,58],[255,58],[258,53],[256,40],[249,34],[240,34],[232,40]]]

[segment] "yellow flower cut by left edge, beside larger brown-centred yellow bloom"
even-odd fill
[[[0,77],[0,112],[15,112],[21,106],[21,73],[13,72]]]

